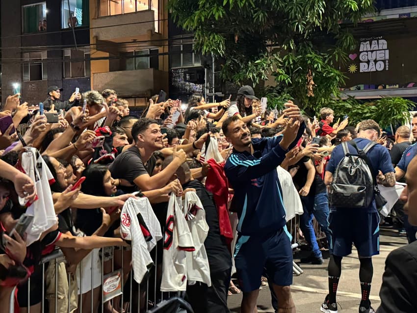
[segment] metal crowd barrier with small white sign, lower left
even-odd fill
[[[118,249],[121,250],[121,268],[119,269],[115,269],[115,264],[114,264],[114,251],[115,251],[115,247],[111,248],[111,272],[108,274],[104,274],[104,249],[100,249],[101,250],[101,285],[100,285],[100,289],[101,289],[101,297],[100,297],[100,302],[99,302],[99,307],[98,310],[95,309],[95,304],[94,303],[94,292],[92,292],[94,290],[94,281],[95,281],[95,277],[94,277],[94,268],[95,268],[95,258],[93,257],[93,253],[96,253],[95,250],[93,250],[91,252],[91,264],[85,264],[85,258],[87,258],[87,256],[84,257],[83,260],[80,261],[80,263],[77,266],[77,272],[75,274],[71,274],[71,273],[67,273],[67,282],[62,282],[58,279],[58,265],[60,265],[61,263],[66,263],[65,257],[63,255],[63,253],[61,252],[61,250],[56,249],[54,250],[50,255],[45,256],[42,258],[41,261],[41,268],[42,268],[42,285],[39,287],[42,287],[42,300],[41,300],[41,311],[38,310],[32,310],[32,313],[72,313],[72,312],[76,312],[76,313],[104,313],[104,306],[106,305],[107,302],[110,302],[110,308],[111,311],[114,308],[114,301],[115,298],[118,298],[118,300],[120,299],[120,310],[123,311],[124,313],[139,313],[139,312],[146,312],[146,313],[180,313],[180,312],[189,312],[189,313],[193,313],[193,310],[191,308],[191,306],[184,300],[185,297],[185,292],[161,292],[156,290],[156,286],[158,285],[157,282],[157,270],[156,270],[156,266],[157,266],[157,260],[159,257],[157,255],[157,249],[155,248],[154,251],[151,252],[151,256],[154,255],[155,256],[155,266],[153,267],[153,269],[150,271],[150,273],[154,273],[154,275],[151,277],[151,275],[149,275],[148,279],[144,279],[142,282],[142,284],[136,284],[137,285],[137,295],[133,294],[133,274],[132,274],[132,269],[130,268],[129,271],[129,278],[128,280],[125,282],[125,278],[124,278],[124,252],[126,251],[126,249],[124,247],[118,247]],[[96,259],[97,260],[97,259]],[[55,269],[54,269],[54,274],[55,274],[55,293],[54,293],[54,299],[52,301],[55,301],[54,303],[54,310],[51,310],[51,302],[49,302],[49,306],[47,306],[47,298],[45,295],[46,292],[46,271],[47,271],[47,264],[49,263],[49,266],[51,266],[52,264],[54,264]],[[53,266],[53,265],[52,265]],[[87,266],[87,270],[88,270],[88,266],[91,266],[91,288],[88,288],[88,290],[83,290],[83,282],[82,282],[82,269],[83,266]],[[70,305],[70,301],[71,301],[71,292],[74,290],[71,290],[71,275],[77,275],[78,273],[78,277],[79,277],[79,294],[77,296],[77,309],[76,310],[71,310],[71,305]],[[74,279],[75,277],[73,277]],[[153,283],[153,287],[152,289],[150,289],[150,282]],[[67,294],[67,301],[68,301],[68,306],[67,308],[60,308],[58,307],[58,284],[67,284],[68,283],[68,294]],[[126,284],[128,283],[128,284]],[[27,313],[31,313],[30,310],[30,277],[28,279],[28,288],[27,288]],[[160,282],[159,282],[160,284]],[[76,285],[78,285],[77,281],[76,281]],[[124,288],[126,287],[126,285],[129,285],[129,302],[125,303],[124,301],[124,297],[126,297],[127,295],[125,295],[124,293]],[[142,286],[141,286],[142,285]],[[91,291],[91,307],[88,305],[88,308],[83,308],[82,306],[82,297],[85,296],[86,292]],[[135,297],[137,296],[137,299],[135,299]],[[142,298],[144,297],[144,301],[145,303],[143,303]],[[151,299],[153,300],[151,303]],[[137,304],[136,304],[137,302]],[[10,312],[9,313],[14,313],[14,303],[15,303],[15,292],[12,293],[11,298],[10,298]],[[134,306],[134,307],[133,307]],[[1,310],[0,310],[1,311]],[[18,313],[18,312],[16,312]]]

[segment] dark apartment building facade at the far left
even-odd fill
[[[88,0],[1,1],[2,102],[16,84],[29,104],[50,85],[64,88],[63,99],[89,90],[88,27]]]

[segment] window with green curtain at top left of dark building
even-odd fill
[[[22,6],[22,33],[46,30],[46,2]]]

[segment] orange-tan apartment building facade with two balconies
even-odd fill
[[[90,0],[91,87],[131,107],[168,90],[166,0]]]

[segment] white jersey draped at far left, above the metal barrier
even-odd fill
[[[33,147],[25,147],[20,170],[33,180],[37,194],[37,199],[33,203],[27,203],[24,198],[19,198],[20,204],[27,206],[26,214],[33,216],[31,224],[26,229],[26,245],[29,246],[39,240],[44,231],[57,223],[50,187],[55,180],[39,151]]]

